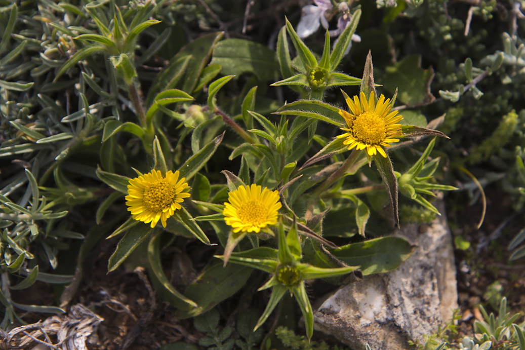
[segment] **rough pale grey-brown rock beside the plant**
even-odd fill
[[[438,208],[444,213],[444,208]],[[457,305],[456,267],[446,219],[405,225],[394,233],[417,245],[394,271],[364,276],[341,287],[314,314],[316,330],[355,350],[408,349],[425,343]]]

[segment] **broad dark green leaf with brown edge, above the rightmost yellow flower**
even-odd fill
[[[421,56],[411,55],[385,69],[383,85],[391,93],[399,89],[397,98],[406,105],[426,105],[435,100],[430,93],[434,69],[421,68]]]

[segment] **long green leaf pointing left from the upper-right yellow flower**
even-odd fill
[[[339,108],[318,100],[295,101],[282,106],[275,114],[316,118],[338,127],[345,123],[343,117],[339,115]]]

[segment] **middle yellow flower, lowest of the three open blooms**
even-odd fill
[[[262,189],[256,184],[239,186],[228,193],[228,202],[224,203],[224,221],[233,228],[233,232],[259,232],[267,225],[275,225],[277,211],[282,205],[279,193]]]

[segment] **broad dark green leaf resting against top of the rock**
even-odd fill
[[[361,266],[363,275],[392,271],[412,255],[415,246],[406,240],[387,236],[331,249],[345,264]]]

